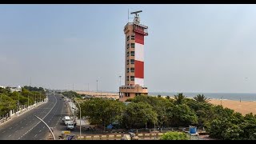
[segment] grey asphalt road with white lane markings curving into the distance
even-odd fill
[[[34,115],[53,127],[54,136],[58,139],[61,131],[66,130],[66,126],[62,125],[62,117],[70,115],[66,102],[60,98],[58,94],[48,95],[47,103],[0,126],[0,140],[46,140],[49,129]]]

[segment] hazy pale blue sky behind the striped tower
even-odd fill
[[[256,6],[237,4],[0,5],[0,86],[117,92],[128,9],[149,92],[256,93]]]

